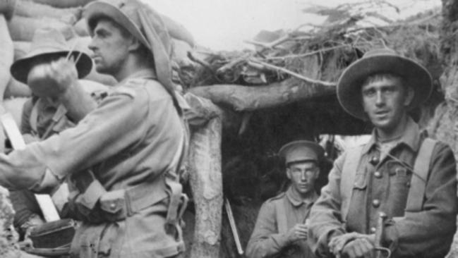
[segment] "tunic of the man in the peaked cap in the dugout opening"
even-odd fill
[[[315,193],[315,192],[314,192]],[[307,245],[306,240],[289,242],[287,231],[297,223],[306,223],[309,211],[318,195],[303,201],[291,190],[283,192],[277,197],[268,199],[261,207],[255,228],[246,247],[246,256],[250,258],[264,257],[291,257],[312,258],[315,257]],[[287,228],[280,228],[282,215],[278,209],[284,209],[284,218],[287,219]],[[286,232],[280,232],[285,231]]]

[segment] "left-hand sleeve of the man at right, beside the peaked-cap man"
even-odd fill
[[[308,245],[318,257],[327,257],[327,243],[334,235],[345,233],[340,213],[342,198],[340,180],[345,154],[339,156],[328,176],[329,183],[321,190],[321,195],[313,204],[308,229]]]

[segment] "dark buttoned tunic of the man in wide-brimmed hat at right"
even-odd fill
[[[309,241],[319,257],[329,256],[327,243],[334,235],[346,232],[371,234],[378,213],[387,214],[385,247],[392,257],[444,257],[450,248],[458,211],[456,168],[452,150],[439,142],[433,149],[426,182],[423,210],[404,212],[414,161],[424,137],[418,125],[409,119],[404,134],[389,155],[381,155],[375,131],[363,147],[356,171],[349,209],[342,218],[344,196],[340,180],[345,154],[336,161],[320,198],[311,210]],[[345,221],[346,223],[344,223]]]

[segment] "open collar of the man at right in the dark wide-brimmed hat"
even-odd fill
[[[418,148],[420,147],[420,137],[421,132],[418,124],[415,123],[414,119],[408,116],[406,129],[399,139],[398,145],[404,144],[408,146],[412,151],[418,152]],[[367,154],[370,149],[374,147],[374,145],[377,145],[377,133],[375,128],[372,130],[372,135],[369,142],[363,147],[363,153]]]

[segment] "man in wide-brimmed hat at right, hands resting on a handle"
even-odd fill
[[[428,71],[391,49],[368,51],[344,70],[339,102],[374,130],[335,161],[311,210],[318,257],[374,257],[375,248],[383,257],[447,254],[458,211],[454,156],[409,116],[431,90]]]

